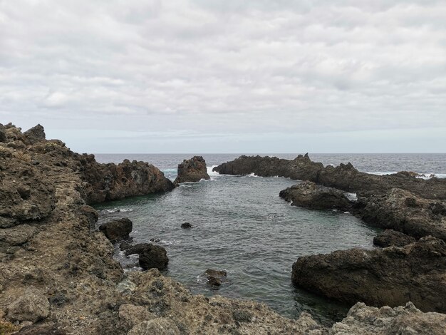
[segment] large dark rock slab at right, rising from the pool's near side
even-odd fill
[[[292,282],[325,297],[373,306],[413,301],[422,311],[446,311],[446,244],[423,237],[405,247],[350,249],[299,257]]]

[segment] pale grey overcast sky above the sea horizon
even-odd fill
[[[0,123],[92,153],[446,152],[444,0],[0,0]]]

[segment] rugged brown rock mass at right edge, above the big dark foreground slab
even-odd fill
[[[398,230],[415,238],[446,240],[446,205],[398,188],[358,195],[354,211],[370,225]]]

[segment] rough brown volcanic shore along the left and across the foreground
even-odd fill
[[[404,306],[394,309],[356,304],[328,328],[307,313],[293,320],[254,301],[193,295],[153,265],[123,272],[113,259],[112,242],[128,236],[131,222],[96,230],[98,213],[90,205],[168,192],[174,183],[148,163],[100,164],[93,155],[73,153],[60,140],[46,140],[41,125],[23,133],[0,125],[0,180],[0,334],[442,334],[445,329],[445,314],[423,312],[442,311],[440,302],[435,309],[415,303],[423,311],[403,300]],[[401,188],[418,196],[427,192],[417,180],[409,184]],[[426,198],[444,199],[441,187],[432,185],[435,195]],[[442,209],[430,204],[439,215]],[[437,249],[418,247],[423,241],[434,241]],[[143,255],[152,252],[147,245],[133,247]],[[435,254],[442,247],[441,239],[425,237],[390,249],[408,257],[425,250],[432,259],[444,259]]]

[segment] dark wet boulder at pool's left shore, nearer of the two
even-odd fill
[[[130,247],[125,254],[138,254],[140,257],[140,267],[145,270],[152,268],[163,270],[167,267],[167,263],[169,263],[166,249],[160,245],[150,243],[136,244]]]

